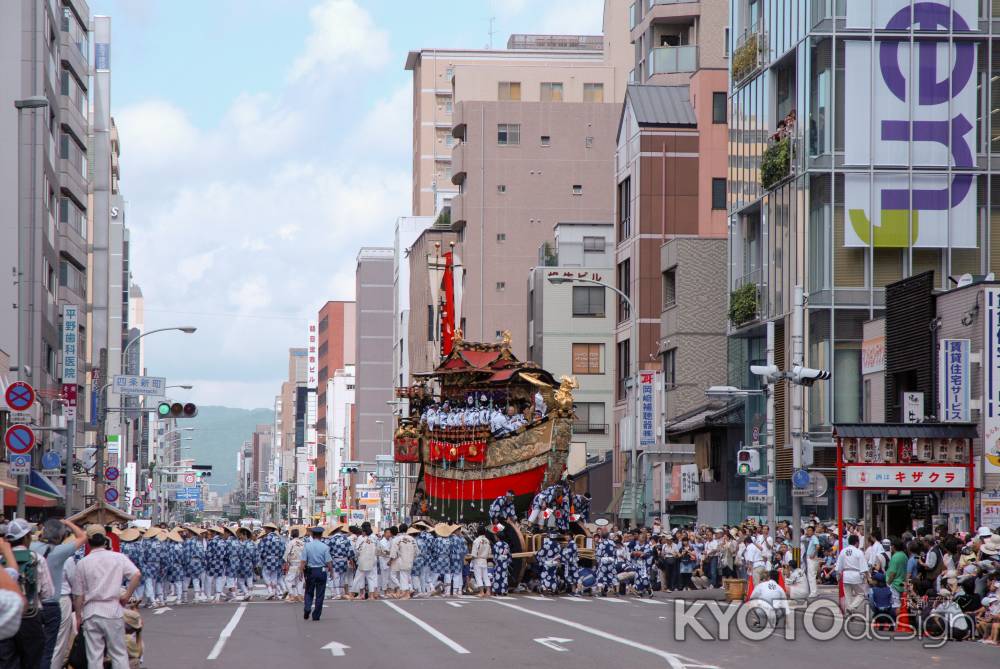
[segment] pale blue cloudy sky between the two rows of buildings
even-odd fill
[[[148,374],[202,405],[273,406],[288,348],[354,298],[362,246],[410,214],[408,51],[600,34],[602,0],[90,0]]]

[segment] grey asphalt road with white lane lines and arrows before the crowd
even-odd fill
[[[280,602],[146,609],[144,659],[149,669],[468,669],[470,662],[519,668],[558,663],[573,669],[743,669],[750,658],[769,669],[802,669],[804,662],[881,669],[1000,663],[1000,649],[980,643],[929,648],[920,640],[854,640],[843,634],[819,641],[808,636],[799,617],[794,626],[779,625],[763,640],[747,638],[733,624],[730,639],[720,643],[711,612],[703,609],[685,618],[675,611],[682,604],[665,598],[525,595],[487,601],[327,601],[318,622],[303,620],[301,605]],[[721,610],[730,608],[721,603]],[[731,610],[735,613],[736,607]],[[689,622],[683,640],[675,638],[678,618]],[[836,622],[827,613],[815,620],[822,629]],[[697,623],[703,623],[711,639],[692,632]]]

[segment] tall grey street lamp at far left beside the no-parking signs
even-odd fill
[[[21,169],[22,162],[22,145],[24,142],[21,138],[21,117],[25,109],[43,109],[49,106],[49,100],[42,95],[34,95],[32,97],[24,98],[23,100],[15,100],[14,108],[17,109],[17,165],[18,174],[21,174],[23,170]],[[33,345],[30,343],[32,339],[29,336],[29,329],[31,329],[32,323],[30,322],[31,314],[34,310],[31,305],[34,303],[31,297],[32,286],[35,285],[35,212],[37,210],[36,203],[36,190],[37,190],[37,151],[36,151],[36,134],[38,130],[38,123],[34,123],[31,126],[31,192],[28,198],[20,193],[20,180],[18,181],[18,197],[17,197],[17,367],[18,375],[22,380],[27,380],[31,378],[32,373],[32,353],[34,351]],[[31,203],[31,218],[30,226],[25,225],[25,202]],[[26,229],[28,228],[28,229]],[[31,311],[29,311],[31,308]],[[25,507],[25,492],[27,491],[28,477],[19,475],[17,477],[17,517],[24,517],[24,507]]]

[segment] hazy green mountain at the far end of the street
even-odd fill
[[[180,427],[193,427],[193,432],[182,432],[191,441],[181,457],[194,458],[195,464],[212,465],[208,480],[212,492],[220,495],[232,490],[239,478],[236,455],[244,441],[253,438],[258,425],[274,425],[272,409],[233,409],[219,406],[199,406],[198,415],[190,420],[178,421]]]

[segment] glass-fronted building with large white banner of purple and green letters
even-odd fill
[[[828,432],[865,419],[887,284],[1000,269],[1000,1],[731,0],[729,26],[730,382],[756,382],[768,321],[790,362],[801,283],[806,364],[833,371],[805,424]]]

